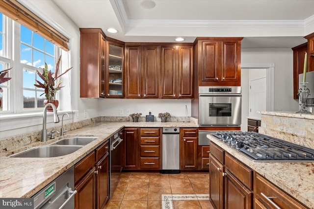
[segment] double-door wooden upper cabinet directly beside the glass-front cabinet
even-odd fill
[[[159,47],[126,45],[126,97],[158,98]]]

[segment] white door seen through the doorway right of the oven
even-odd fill
[[[266,77],[250,81],[250,117],[261,117],[266,111]]]

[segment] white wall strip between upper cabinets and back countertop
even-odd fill
[[[186,116],[185,105],[188,116],[191,116],[190,99],[103,99],[99,100],[99,115],[129,116],[132,113],[142,113],[142,116],[146,116],[152,110],[154,116],[164,112],[171,116]],[[123,110],[122,115],[120,109]],[[130,110],[130,114],[127,114],[127,110]]]

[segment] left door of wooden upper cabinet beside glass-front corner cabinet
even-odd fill
[[[141,46],[127,46],[126,56],[126,75],[125,75],[125,96],[127,98],[141,97]]]

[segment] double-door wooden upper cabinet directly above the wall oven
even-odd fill
[[[198,86],[241,86],[242,39],[196,39],[194,51]]]

